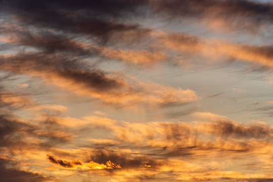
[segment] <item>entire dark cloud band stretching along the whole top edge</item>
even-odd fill
[[[107,4],[107,6],[105,6]],[[48,1],[37,4],[27,1],[3,1],[2,11],[17,16],[17,21],[36,27],[47,27],[69,33],[84,33],[107,40],[115,32],[141,31],[139,25],[118,23],[134,17],[149,15],[161,21],[182,19],[205,22],[222,30],[257,32],[264,25],[272,24],[273,10],[270,3],[240,1],[120,1],[100,3],[80,1]],[[110,8],[111,7],[111,8]],[[61,10],[60,10],[61,9]],[[54,19],[55,21],[51,21]],[[205,20],[205,21],[204,21]]]

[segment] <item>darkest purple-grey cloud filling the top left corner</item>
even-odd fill
[[[106,42],[111,34],[126,31],[147,31],[138,24],[123,24],[139,12],[145,1],[2,1],[2,12],[17,16],[21,25],[54,29],[66,33],[83,33],[93,40]],[[138,13],[139,14],[139,13]]]

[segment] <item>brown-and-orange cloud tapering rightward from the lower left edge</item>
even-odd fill
[[[8,115],[0,117],[0,130],[1,149],[11,151],[32,145],[35,145],[34,148],[50,147],[58,143],[67,143],[75,136],[49,121],[31,123]]]

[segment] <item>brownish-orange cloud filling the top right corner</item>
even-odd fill
[[[197,20],[222,31],[244,30],[257,32],[272,24],[273,8],[270,3],[254,1],[150,1],[155,12],[168,20]]]

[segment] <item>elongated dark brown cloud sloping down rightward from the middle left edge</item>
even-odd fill
[[[67,55],[22,53],[4,60],[0,64],[4,65],[3,67],[7,70],[15,73],[28,74],[31,71],[47,72],[49,75],[53,73],[56,76],[69,79],[75,83],[82,83],[86,87],[101,91],[122,87],[120,80],[110,78],[102,70],[92,67],[88,68],[89,65],[76,58],[69,58]]]

